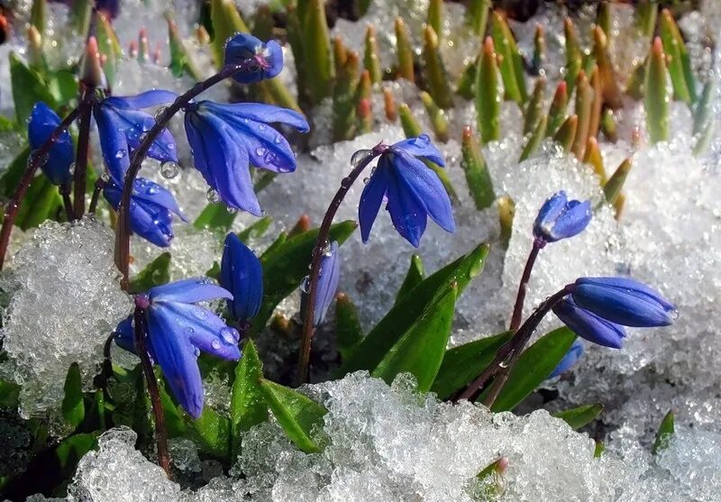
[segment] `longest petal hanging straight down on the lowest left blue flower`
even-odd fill
[[[163,370],[173,396],[188,415],[199,417],[205,398],[196,348],[188,339],[185,328],[177,323],[178,315],[166,306],[151,305],[146,315],[155,361]]]

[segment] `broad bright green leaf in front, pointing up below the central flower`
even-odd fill
[[[398,374],[407,371],[417,380],[420,392],[431,388],[451,336],[457,293],[458,287],[452,284],[429,304],[379,362],[373,376],[390,384]]]

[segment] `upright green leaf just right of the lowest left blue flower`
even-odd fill
[[[255,344],[249,338],[242,348],[242,359],[235,366],[231,396],[233,455],[240,452],[241,434],[268,419],[268,406],[260,391],[263,368]]]

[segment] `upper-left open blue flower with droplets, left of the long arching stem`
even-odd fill
[[[175,93],[152,90],[137,96],[106,97],[95,107],[97,131],[103,160],[116,185],[122,185],[130,167],[132,152],[141,144],[143,134],[155,124],[151,114],[141,108],[162,105],[175,100]],[[178,162],[175,140],[164,129],[151,144],[148,157],[160,162]]]

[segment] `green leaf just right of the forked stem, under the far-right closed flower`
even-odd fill
[[[548,378],[575,340],[576,334],[566,327],[539,338],[520,355],[491,410],[510,411],[516,407]]]

